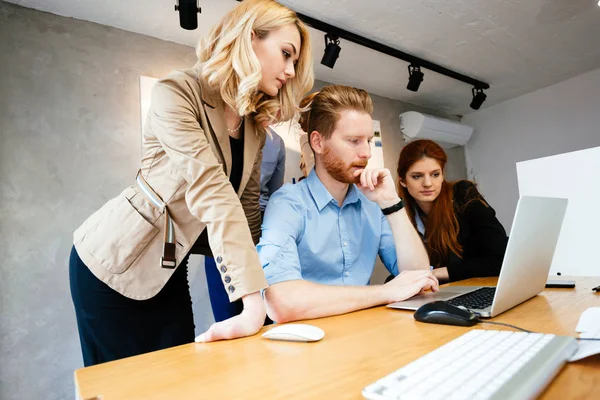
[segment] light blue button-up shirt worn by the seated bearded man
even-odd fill
[[[379,206],[351,185],[339,207],[314,169],[271,197],[257,249],[270,285],[297,279],[367,285],[377,255],[398,274],[394,238]]]

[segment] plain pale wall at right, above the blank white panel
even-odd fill
[[[475,128],[465,149],[469,179],[509,230],[519,199],[517,162],[600,146],[600,69],[468,114],[462,122]]]

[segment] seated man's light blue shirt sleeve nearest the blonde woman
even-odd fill
[[[297,243],[304,233],[305,209],[284,186],[269,200],[258,256],[269,285],[302,279]]]

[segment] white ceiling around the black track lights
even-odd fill
[[[179,27],[175,0],[8,0],[190,46],[235,0],[200,0],[200,27]],[[281,0],[296,11],[488,82],[482,108],[600,68],[598,0]],[[467,114],[471,87],[428,70],[406,90],[407,63],[342,40],[335,68],[320,64],[323,33],[311,29],[318,79],[349,84],[449,114]]]

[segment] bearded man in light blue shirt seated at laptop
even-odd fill
[[[280,323],[319,318],[437,291],[389,170],[365,168],[371,98],[339,85],[312,97],[301,124],[310,132],[315,168],[271,197],[257,246],[270,285],[264,293],[269,317]],[[377,255],[398,276],[368,286]]]

